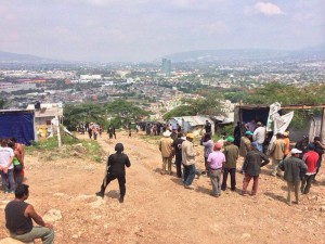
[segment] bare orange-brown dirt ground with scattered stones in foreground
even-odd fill
[[[104,200],[94,195],[104,163],[82,157],[44,162],[40,154],[26,158],[27,202],[41,215],[52,208],[62,213],[54,223],[55,243],[325,243],[324,166],[320,183],[301,196],[299,205],[286,205],[286,183],[271,177],[268,166],[257,196],[239,195],[243,176],[237,174],[237,191],[226,190],[214,198],[207,177],[195,179],[195,190],[187,190],[176,176],[161,176],[157,144],[143,134],[128,138],[119,132],[110,141],[103,134],[99,141],[107,154],[122,142],[131,159],[123,204],[118,202],[117,181],[107,187]],[[200,152],[196,166],[203,169],[203,147],[196,150]],[[0,193],[0,208],[12,198]],[[3,210],[0,219],[2,239],[8,236]]]

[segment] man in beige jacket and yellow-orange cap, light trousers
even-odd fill
[[[195,156],[198,156],[194,151],[193,139],[193,133],[186,133],[186,140],[182,143],[183,183],[186,189],[194,189]]]

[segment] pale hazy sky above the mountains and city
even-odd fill
[[[2,0],[0,16],[0,51],[65,61],[325,44],[324,0]]]

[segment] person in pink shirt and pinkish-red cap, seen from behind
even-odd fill
[[[212,184],[211,195],[216,197],[221,195],[220,178],[222,166],[225,163],[225,156],[223,153],[220,152],[221,147],[221,143],[217,142],[213,146],[213,152],[210,153],[207,158],[209,165],[210,180]]]

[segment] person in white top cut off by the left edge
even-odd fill
[[[14,180],[14,166],[13,166],[14,151],[8,146],[8,141],[1,140],[0,147],[0,175],[2,180],[2,188],[4,194],[14,193],[15,180]]]

